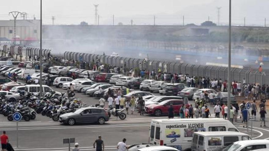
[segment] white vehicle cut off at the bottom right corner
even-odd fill
[[[255,139],[232,143],[222,151],[268,151],[269,140]]]

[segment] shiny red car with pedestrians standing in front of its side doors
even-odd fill
[[[165,100],[158,104],[150,104],[146,106],[146,113],[160,116],[160,115],[168,115],[168,108],[170,107],[170,104],[173,104],[174,108],[174,114],[179,114],[179,109],[184,104],[184,100],[182,99],[171,99],[171,100]],[[186,104],[188,107],[189,104]]]

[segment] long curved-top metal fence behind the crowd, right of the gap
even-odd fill
[[[80,58],[81,57],[81,58]],[[97,61],[102,64],[109,64],[117,67],[127,67],[129,69],[139,68],[140,70],[155,70],[160,69],[167,73],[181,73],[189,74],[190,76],[198,77],[210,77],[210,78],[221,78],[226,80],[228,78],[227,67],[218,66],[206,66],[196,64],[178,63],[173,61],[162,61],[162,60],[146,60],[137,58],[126,58],[120,56],[104,56],[98,54],[88,54],[79,52],[64,52],[64,59],[68,60],[85,60],[86,62]],[[245,78],[246,83],[255,84],[269,84],[269,76],[265,72],[253,71],[250,69],[231,69],[231,80],[232,81],[243,81]]]

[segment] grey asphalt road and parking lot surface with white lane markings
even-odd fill
[[[67,92],[61,88],[51,87],[58,92]],[[158,95],[157,93],[155,93]],[[77,98],[87,105],[98,103],[97,98],[88,97],[81,93],[76,93]],[[193,101],[190,101],[193,104]],[[213,107],[209,108],[213,112]],[[214,117],[214,114],[212,114]],[[150,115],[140,116],[138,113],[127,115],[125,120],[111,119],[104,125],[98,124],[79,124],[76,126],[68,126],[53,121],[51,118],[37,115],[35,120],[29,122],[19,122],[19,151],[64,151],[68,150],[68,144],[63,144],[63,138],[75,138],[80,144],[81,150],[95,150],[92,145],[98,135],[102,135],[105,142],[105,150],[115,151],[118,142],[123,138],[127,139],[127,145],[148,143],[149,141],[149,124],[151,119],[168,118],[167,116],[154,117]],[[175,117],[178,118],[178,117]],[[268,121],[269,118],[267,118]],[[253,121],[252,138],[269,139],[269,127],[260,127],[260,118]],[[10,143],[16,146],[16,122],[10,122],[7,117],[0,115],[0,131],[5,130],[9,135]],[[241,120],[234,122],[241,132],[250,135],[250,129],[247,131],[243,128]],[[250,125],[250,124],[249,124]],[[74,144],[71,144],[73,147]]]

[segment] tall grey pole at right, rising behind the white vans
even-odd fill
[[[228,52],[228,98],[227,107],[228,113],[227,118],[230,120],[230,104],[231,104],[231,0],[229,0],[229,52]]]

